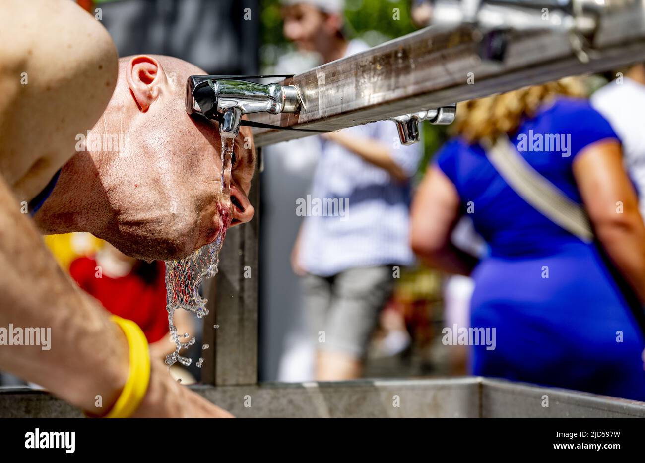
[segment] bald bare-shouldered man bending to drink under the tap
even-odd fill
[[[205,73],[170,57],[117,59],[99,21],[69,0],[0,5],[0,327],[51,328],[50,350],[0,346],[0,369],[93,415],[123,389],[128,344],[39,232],[91,232],[143,259],[184,257],[215,239],[220,140],[184,110],[193,74]],[[255,163],[246,128],[235,142],[232,226],[253,216]],[[230,415],[153,360],[134,416]]]

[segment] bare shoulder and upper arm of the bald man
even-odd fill
[[[28,201],[74,154],[117,79],[100,21],[69,0],[0,2],[0,172]]]

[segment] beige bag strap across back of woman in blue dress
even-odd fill
[[[593,241],[593,230],[584,208],[527,163],[508,137],[500,137],[486,149],[486,155],[511,188],[535,210],[582,241]]]

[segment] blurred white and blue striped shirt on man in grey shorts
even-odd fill
[[[392,121],[347,128],[343,133],[386,144],[404,172],[410,177],[416,172],[421,143],[401,145]],[[308,213],[300,246],[303,268],[314,275],[331,276],[360,266],[412,264],[410,181],[397,182],[386,170],[333,141],[318,138],[321,157],[312,192],[300,201],[300,212]]]

